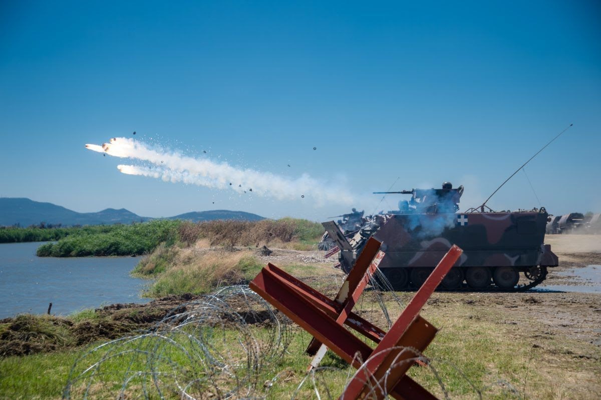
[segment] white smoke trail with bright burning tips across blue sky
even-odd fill
[[[227,162],[210,159],[194,159],[146,145],[129,138],[112,138],[101,146],[87,144],[88,150],[99,151],[109,156],[150,162],[154,166],[119,165],[123,174],[161,178],[173,183],[182,182],[216,189],[231,189],[238,193],[252,192],[278,200],[301,199],[307,196],[317,205],[352,205],[354,196],[343,187],[326,185],[307,174],[296,179],[282,177],[270,172],[240,169]]]

